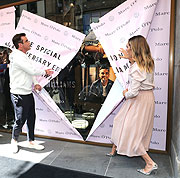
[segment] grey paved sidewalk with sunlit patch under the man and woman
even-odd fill
[[[144,161],[140,157],[107,157],[105,155],[110,152],[109,147],[36,138],[45,146],[45,150],[36,151],[23,147],[26,137],[21,135],[20,150],[17,154],[12,154],[9,150],[10,139],[10,133],[0,132],[1,178],[19,177],[36,163],[114,178],[146,177],[136,171],[137,168],[144,167]],[[150,155],[159,169],[156,175],[149,177],[173,178],[169,156],[155,153]]]

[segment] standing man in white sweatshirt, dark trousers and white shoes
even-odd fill
[[[11,146],[13,153],[18,152],[18,137],[22,131],[22,127],[27,121],[27,140],[29,148],[37,150],[44,149],[43,145],[38,145],[34,141],[35,127],[35,103],[32,94],[32,86],[35,90],[41,90],[41,86],[36,82],[33,76],[52,75],[50,69],[36,69],[26,52],[30,50],[31,44],[25,33],[16,34],[13,39],[15,50],[10,54],[10,92],[11,100],[15,111],[15,123],[12,130]]]

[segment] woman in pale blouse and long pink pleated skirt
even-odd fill
[[[111,140],[112,151],[118,154],[142,156],[146,166],[137,171],[145,175],[158,169],[147,154],[154,120],[154,61],[143,36],[129,39],[127,49],[120,49],[123,58],[129,59],[129,87],[123,91],[125,102],[114,118]]]

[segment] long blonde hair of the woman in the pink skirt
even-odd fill
[[[132,58],[139,68],[152,73],[154,71],[154,60],[146,39],[141,35],[133,36],[128,43],[132,50]]]

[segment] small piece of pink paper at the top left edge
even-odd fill
[[[0,10],[0,46],[9,47],[15,31],[15,8]]]

